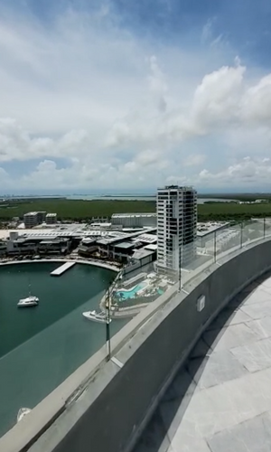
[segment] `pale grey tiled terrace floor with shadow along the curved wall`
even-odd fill
[[[135,452],[270,452],[271,276],[203,334]]]

